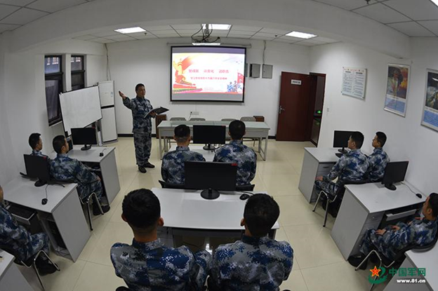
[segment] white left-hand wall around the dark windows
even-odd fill
[[[106,57],[104,46],[100,43],[87,41],[60,41],[39,46],[24,53],[4,55],[4,69],[7,74],[0,76],[1,109],[0,133],[3,148],[0,151],[0,182],[6,182],[18,175],[18,170],[24,172],[22,154],[31,151],[27,139],[30,133],[41,133],[44,144],[44,153],[53,151],[51,142],[55,135],[63,134],[62,123],[48,127],[46,110],[46,90],[44,83],[44,55],[70,54],[91,55],[87,57],[87,83],[93,85],[96,81],[105,81]],[[1,61],[0,61],[1,64]],[[66,74],[70,78],[69,73]],[[70,83],[69,81],[67,84]],[[67,86],[67,90],[71,86]],[[7,118],[6,118],[7,116]],[[5,121],[5,123],[4,123]],[[10,132],[8,138],[7,131]],[[6,135],[3,133],[6,132]],[[11,158],[12,163],[4,166],[4,158]],[[8,173],[4,178],[3,171]]]

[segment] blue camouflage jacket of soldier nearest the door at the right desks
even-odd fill
[[[339,158],[338,162],[333,165],[331,171],[323,179],[326,182],[330,182],[336,177],[338,182],[343,180],[360,181],[364,179],[368,168],[368,159],[361,153],[361,150],[352,149]]]

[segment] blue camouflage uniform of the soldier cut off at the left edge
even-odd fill
[[[11,213],[0,203],[0,245],[15,252],[23,262],[44,250],[48,254],[48,236],[44,233],[30,234],[18,225]]]

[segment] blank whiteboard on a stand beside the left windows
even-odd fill
[[[60,105],[68,135],[72,128],[84,128],[102,119],[98,86],[60,93]]]

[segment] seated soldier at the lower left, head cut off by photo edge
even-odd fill
[[[30,234],[23,226],[18,225],[3,204],[3,189],[0,186],[0,248],[13,251],[17,259],[26,262],[36,255],[39,250],[44,250],[48,255],[48,236],[44,233]],[[36,268],[41,276],[56,271],[44,255],[36,259]]]

